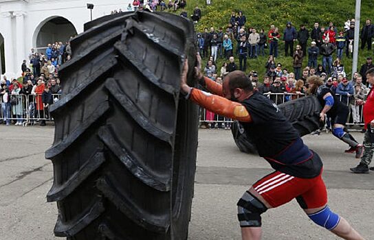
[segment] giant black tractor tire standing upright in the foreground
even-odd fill
[[[184,60],[193,86],[195,32],[187,19],[131,12],[98,19],[71,42],[48,202],[57,237],[187,239],[198,109],[179,94]]]

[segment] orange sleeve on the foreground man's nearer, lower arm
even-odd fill
[[[203,106],[211,112],[217,113],[223,117],[236,119],[239,121],[251,122],[251,116],[248,110],[242,104],[225,99],[217,95],[200,91],[199,89],[192,88],[190,98],[195,103]]]

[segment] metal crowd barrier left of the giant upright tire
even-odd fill
[[[53,104],[60,100],[60,94],[52,94]],[[44,107],[42,95],[9,95],[9,101],[1,97],[1,121],[33,125],[39,121],[52,121],[50,106]],[[51,104],[52,105],[52,104]]]

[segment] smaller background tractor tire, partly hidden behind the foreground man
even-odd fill
[[[320,111],[322,107],[315,96],[300,97],[284,104],[279,104],[286,119],[292,123],[294,128],[298,130],[300,136],[309,134],[320,128]],[[234,121],[231,125],[232,136],[236,146],[241,152],[247,154],[256,154],[257,149],[250,137],[245,134],[245,130],[239,123]]]

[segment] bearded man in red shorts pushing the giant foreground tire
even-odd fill
[[[196,67],[196,80],[212,93],[188,86],[187,74],[188,60],[181,73],[181,94],[218,115],[238,120],[253,139],[259,156],[275,170],[255,182],[236,203],[241,239],[261,239],[261,215],[294,199],[318,226],[344,239],[363,239],[346,219],[329,208],[318,154],[305,145],[270,99],[254,91],[243,71],[229,73],[221,85],[203,77]]]

